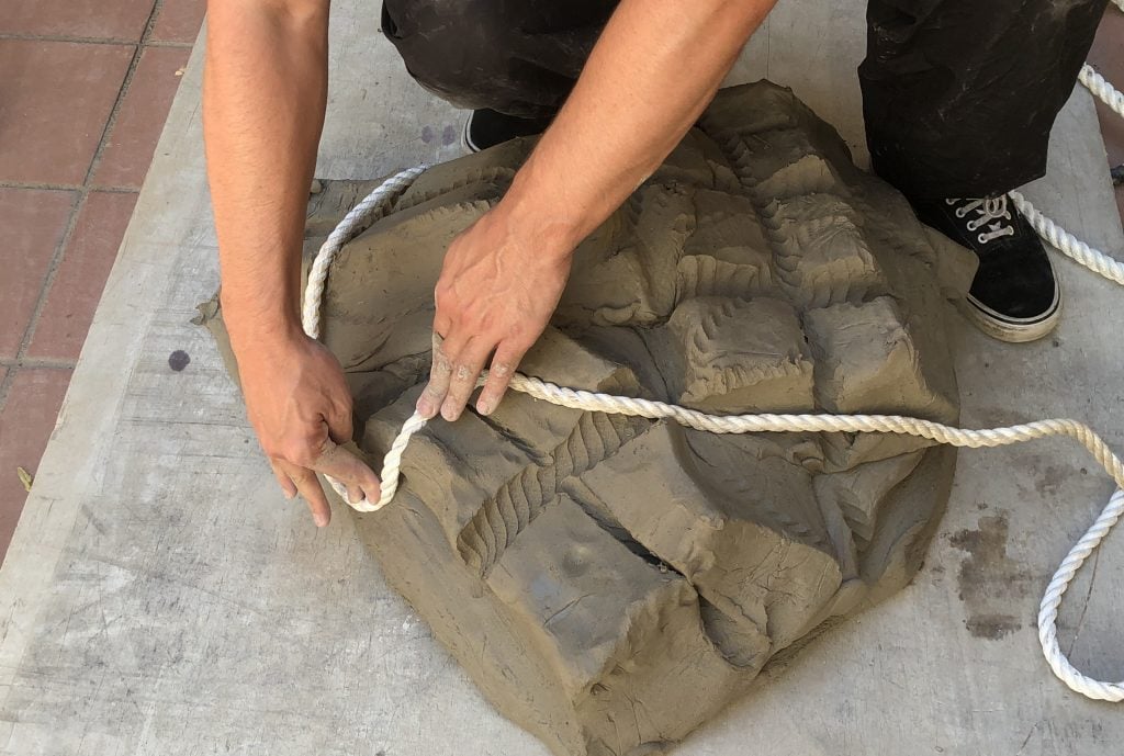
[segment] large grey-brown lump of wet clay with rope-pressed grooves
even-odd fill
[[[428,371],[445,249],[531,147],[429,170],[332,268],[324,340],[377,470]],[[325,184],[309,251],[370,186]],[[954,422],[945,315],[971,273],[790,92],[725,90],[579,247],[522,370],[716,413]],[[904,586],[954,459],[913,438],[716,436],[511,394],[491,417],[430,423],[393,503],[355,517],[501,712],[560,755],[638,756]]]

